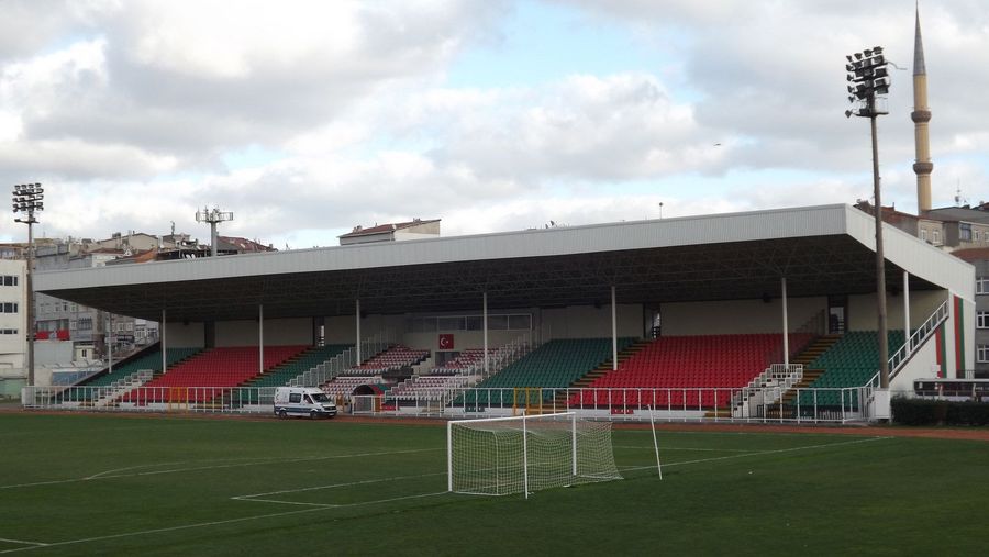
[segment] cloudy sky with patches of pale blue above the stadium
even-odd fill
[[[855,202],[868,121],[844,55],[882,45],[884,202],[913,212],[904,0],[0,0],[0,177],[37,234],[278,248],[357,224],[443,234]],[[989,200],[989,7],[921,5],[934,204]],[[9,205],[8,205],[9,207]],[[0,241],[23,241],[13,213]]]

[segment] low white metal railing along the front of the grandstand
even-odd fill
[[[26,409],[98,412],[268,414],[274,387],[25,387]],[[437,389],[338,400],[342,413],[390,416],[504,416],[577,412],[618,421],[738,423],[851,423],[874,415],[869,387],[794,389],[786,386],[626,389]]]

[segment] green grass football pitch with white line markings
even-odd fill
[[[744,432],[744,430],[743,430]],[[445,493],[445,427],[0,414],[0,554],[976,555],[989,444],[616,430],[624,480]]]

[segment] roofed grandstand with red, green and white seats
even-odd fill
[[[733,419],[734,408],[744,403],[749,409],[738,415],[765,416],[779,392],[774,399],[734,391],[766,388],[760,374],[789,361],[802,364],[803,374],[787,378],[786,386],[771,383],[774,389],[822,396],[831,386],[864,389],[855,399],[860,403],[851,413],[843,409],[842,420],[869,419],[871,410],[862,403],[879,400],[870,390],[875,386],[865,385],[878,359],[837,355],[875,328],[873,225],[869,215],[849,205],[824,205],[289,250],[195,265],[158,261],[130,266],[125,276],[120,268],[71,269],[40,272],[36,286],[65,300],[163,320],[163,346],[199,350],[143,388],[157,392],[143,403],[159,410],[168,410],[175,398],[188,400],[182,389],[214,393],[236,387],[257,390],[237,400],[258,401],[243,411],[260,412],[260,390],[288,381],[341,397],[362,386],[390,388],[388,397],[409,399],[459,390],[444,404],[423,409],[442,415],[509,415],[538,403],[576,405],[592,415],[621,406],[641,416],[643,404],[710,410],[732,401],[732,412],[714,415]],[[888,275],[897,277],[890,280],[904,302],[888,303],[889,322],[924,330],[911,341],[911,352],[898,356],[891,388],[907,389],[932,369],[947,377],[970,369],[971,267],[891,226],[885,236]],[[790,354],[782,350],[784,332]],[[520,338],[526,341],[502,349]],[[808,355],[811,348],[797,354],[808,343],[822,350],[823,341],[835,347],[814,357]],[[891,346],[902,342],[899,333]],[[324,343],[326,352],[303,353]],[[260,376],[258,344],[265,346],[267,368]],[[385,344],[390,348],[382,352]],[[353,348],[342,349],[345,345]],[[273,369],[281,360],[267,360],[280,347],[291,347],[282,360],[298,360]],[[486,348],[496,356],[487,366],[489,377],[481,374]],[[508,352],[511,356],[502,357]],[[302,371],[307,366],[316,371]],[[62,393],[38,389],[26,397],[34,396],[29,405],[57,404],[67,399]],[[801,401],[804,396],[801,391]],[[191,399],[215,403],[215,394]],[[826,396],[814,400],[829,402]],[[216,408],[226,406],[224,399]],[[682,417],[682,409],[676,415]]]

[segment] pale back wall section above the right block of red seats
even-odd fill
[[[827,308],[827,298],[787,300],[788,324],[798,331]],[[782,301],[674,302],[660,307],[663,336],[727,335],[782,332]]]

